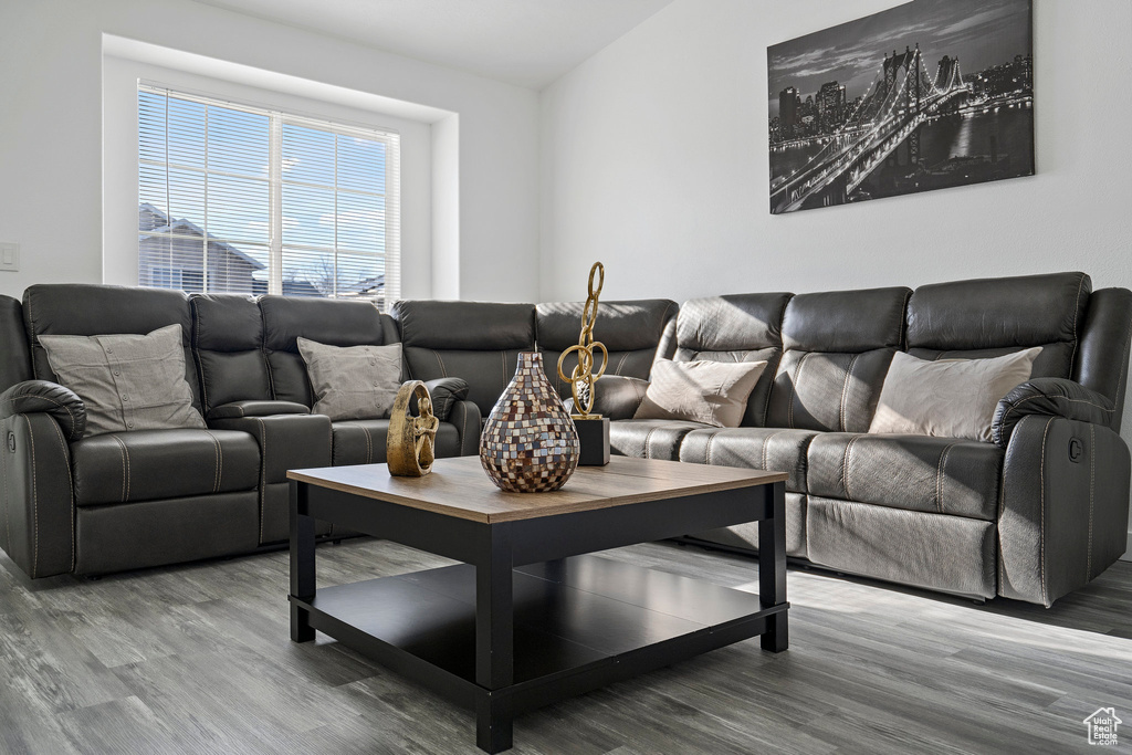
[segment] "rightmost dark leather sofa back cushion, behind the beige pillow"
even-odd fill
[[[985,359],[1041,346],[1032,377],[1067,378],[1091,291],[1084,273],[920,286],[908,301],[908,353]]]

